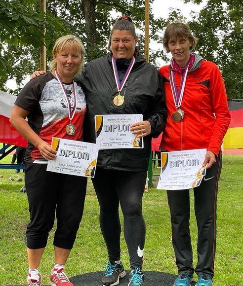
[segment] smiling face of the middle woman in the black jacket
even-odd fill
[[[134,54],[137,37],[129,31],[115,30],[111,36],[111,49],[116,59],[130,60]]]

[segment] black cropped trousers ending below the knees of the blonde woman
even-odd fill
[[[87,178],[46,171],[46,164],[26,164],[25,186],[30,223],[26,246],[44,248],[55,216],[57,228],[53,244],[72,249],[82,218]]]

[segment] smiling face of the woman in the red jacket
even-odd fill
[[[190,58],[190,47],[192,43],[187,37],[170,38],[168,49],[180,67],[184,67]]]

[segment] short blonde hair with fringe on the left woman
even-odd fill
[[[84,61],[84,46],[80,38],[74,35],[61,36],[56,40],[52,49],[52,61],[50,63],[51,72],[56,70],[55,56],[59,55],[63,50],[68,49],[74,50],[75,52],[81,54],[81,62],[76,74],[81,73]]]

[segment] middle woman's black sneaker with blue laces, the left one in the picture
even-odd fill
[[[111,264],[109,261],[107,264],[107,269],[105,276],[102,277],[103,286],[115,286],[119,284],[119,279],[126,276],[124,267],[121,261],[120,263]]]

